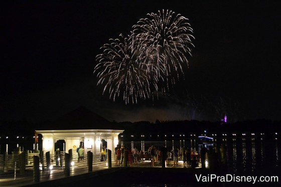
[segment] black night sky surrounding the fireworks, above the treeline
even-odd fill
[[[55,119],[80,105],[116,121],[190,119],[182,97],[186,92],[214,103],[218,98],[238,103],[233,109],[238,120],[281,119],[280,2],[21,1],[1,6],[0,120]],[[194,30],[185,79],[170,95],[133,105],[102,95],[93,74],[99,47],[162,9],[189,18]],[[211,115],[196,119],[214,120]]]

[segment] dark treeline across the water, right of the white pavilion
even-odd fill
[[[159,121],[155,123],[149,121],[138,121],[138,122],[119,122],[115,123],[120,128],[125,129],[124,133],[126,136],[134,135],[136,138],[141,135],[152,135],[157,137],[160,135],[167,134],[167,137],[171,137],[171,134],[175,136],[185,134],[185,137],[189,137],[190,134],[207,135],[227,134],[228,136],[236,134],[237,137],[243,133],[251,135],[255,133],[280,134],[281,121],[271,121],[266,119],[259,120],[245,120],[235,123],[221,123],[221,122],[210,122],[210,121],[197,121],[197,120],[183,120],[183,121]]]

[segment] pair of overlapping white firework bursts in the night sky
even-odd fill
[[[98,84],[113,100],[121,95],[125,103],[150,98],[184,75],[194,38],[188,19],[169,10],[147,15],[133,25],[131,35],[109,39],[96,56]]]

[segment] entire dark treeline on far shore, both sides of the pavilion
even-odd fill
[[[43,126],[48,126],[51,121],[45,121],[41,123],[33,123],[26,119],[19,121],[3,121],[0,123],[0,140],[4,140],[6,136],[16,138],[17,136],[34,136],[35,129],[43,129]],[[59,125],[59,124],[58,124]],[[93,125],[94,128],[95,125]],[[198,120],[181,120],[181,121],[138,121],[138,122],[110,122],[105,129],[124,129],[124,134],[140,136],[142,134],[163,135],[163,134],[185,134],[190,135],[206,134],[210,135],[217,133],[232,134],[236,133],[241,135],[242,133],[279,133],[281,121],[272,121],[266,119],[258,120],[244,120],[234,123],[221,123],[210,121],[198,121]],[[64,127],[65,128],[65,127]],[[62,129],[64,129],[62,128]],[[72,129],[72,126],[67,126],[68,129]],[[77,128],[77,127],[76,127]],[[206,131],[206,132],[204,132]]]

